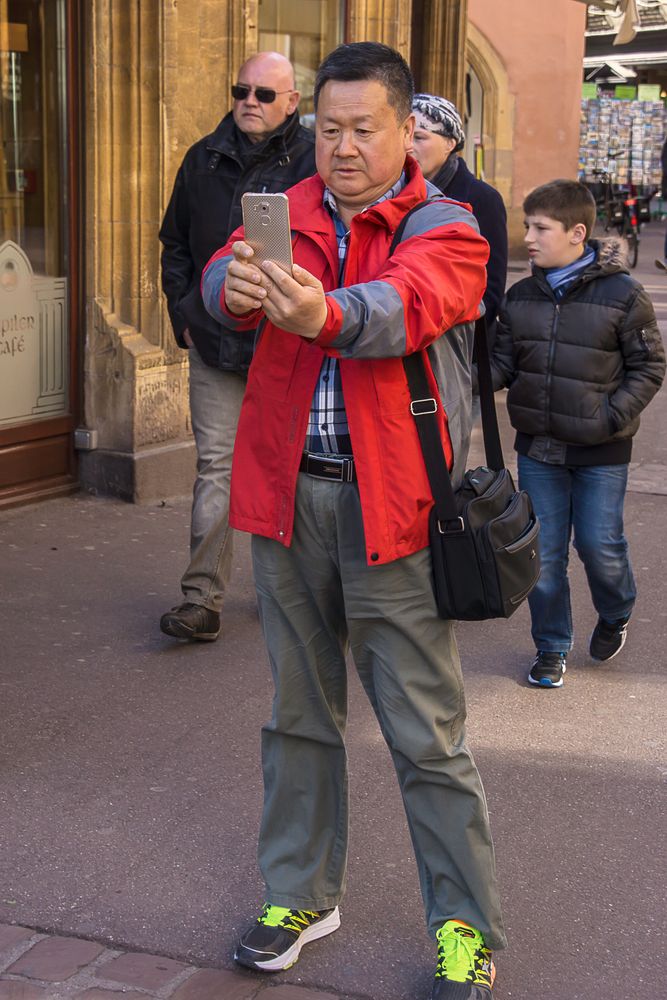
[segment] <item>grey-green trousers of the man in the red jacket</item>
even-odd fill
[[[458,651],[436,613],[429,550],[369,567],[356,484],[304,473],[291,547],[254,536],[252,550],[275,685],[262,730],[266,899],[319,910],[344,893],[350,647],[393,757],[430,932],[456,917],[504,947]]]

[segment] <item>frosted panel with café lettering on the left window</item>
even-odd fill
[[[35,277],[26,254],[0,246],[0,427],[67,411],[67,279]]]

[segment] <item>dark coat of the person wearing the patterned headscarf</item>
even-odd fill
[[[498,191],[478,180],[468,170],[465,160],[460,156],[453,177],[444,183],[442,179],[449,175],[449,160],[435,175],[432,184],[440,188],[443,194],[455,201],[467,202],[479,224],[479,231],[489,244],[489,262],[486,265],[486,291],[484,305],[486,306],[487,329],[489,343],[493,343],[493,327],[498,315],[498,308],[505,294],[507,282],[507,212],[505,204]]]

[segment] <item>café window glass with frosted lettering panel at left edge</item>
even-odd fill
[[[67,412],[64,0],[0,0],[0,430]]]

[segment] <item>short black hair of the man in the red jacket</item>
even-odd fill
[[[387,89],[387,100],[400,122],[412,111],[415,82],[400,52],[380,42],[339,45],[323,60],[315,77],[313,102],[317,111],[320,91],[330,80],[377,80]]]

